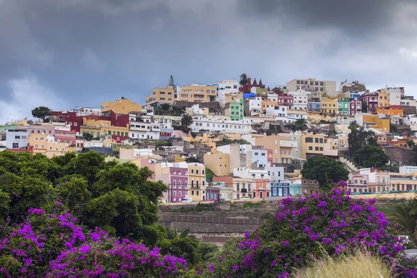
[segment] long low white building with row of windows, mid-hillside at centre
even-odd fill
[[[251,133],[252,120],[231,121],[222,119],[213,119],[209,115],[194,115],[193,124],[190,126],[191,131],[199,132],[200,130],[208,133]]]

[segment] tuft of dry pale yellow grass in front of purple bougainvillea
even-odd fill
[[[299,270],[295,278],[391,278],[392,268],[369,253],[357,252],[345,259],[317,261],[311,267]]]

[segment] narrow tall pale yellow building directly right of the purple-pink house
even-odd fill
[[[206,167],[202,163],[188,163],[188,197],[202,201],[206,193]]]

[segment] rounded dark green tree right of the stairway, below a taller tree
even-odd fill
[[[362,167],[377,167],[388,163],[388,156],[377,146],[365,146],[352,155],[352,161]]]

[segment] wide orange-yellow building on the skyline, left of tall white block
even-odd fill
[[[213,86],[183,86],[177,92],[177,100],[191,102],[211,102],[217,99],[217,88]]]

